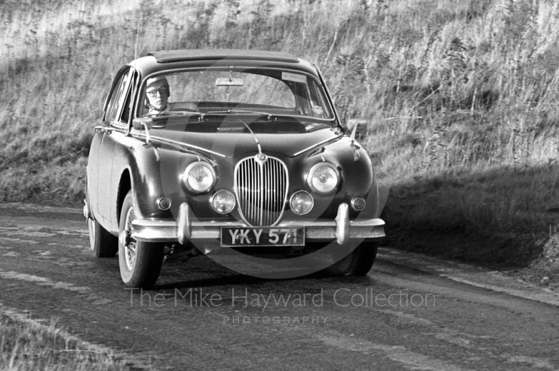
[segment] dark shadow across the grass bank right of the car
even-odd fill
[[[559,224],[557,170],[501,166],[393,185],[383,246],[491,268],[528,266]]]

